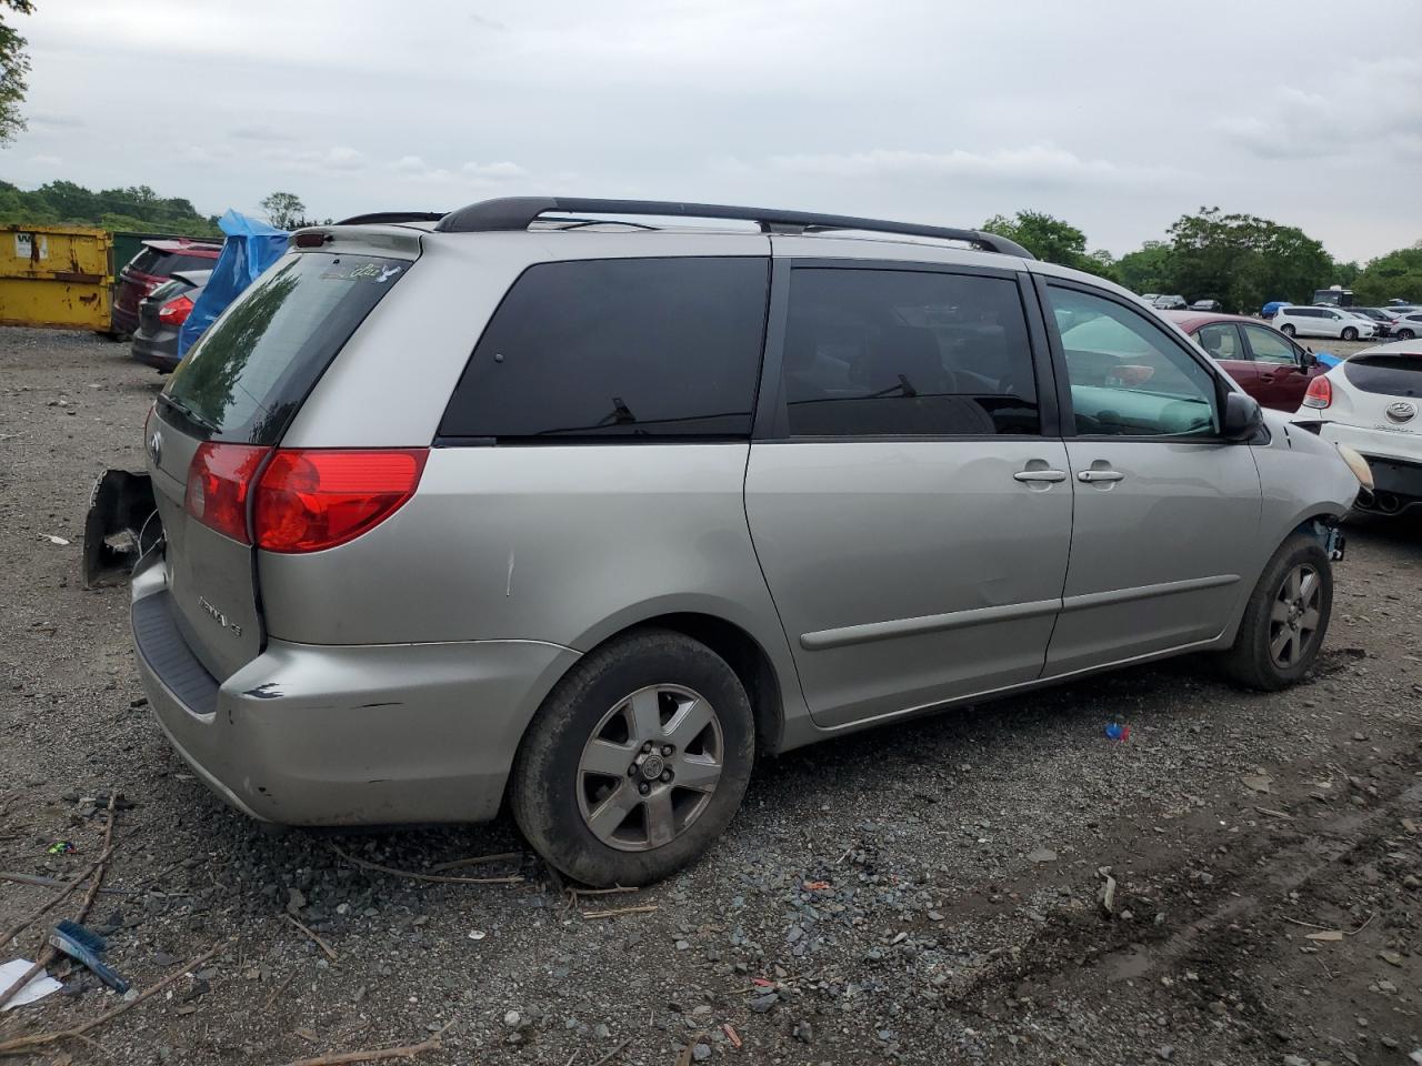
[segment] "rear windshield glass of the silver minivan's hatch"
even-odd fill
[[[203,435],[274,445],[306,394],[410,263],[287,253],[192,347],[164,391]]]

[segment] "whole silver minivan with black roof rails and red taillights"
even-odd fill
[[[138,662],[216,793],[508,799],[590,884],[828,736],[1180,652],[1298,681],[1367,476],[1001,237],[567,199],[299,232],[145,449]]]

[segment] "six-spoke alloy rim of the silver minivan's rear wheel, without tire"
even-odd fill
[[[577,806],[609,847],[661,847],[705,812],[724,762],[721,722],[705,696],[650,685],[614,704],[593,729],[577,763]]]

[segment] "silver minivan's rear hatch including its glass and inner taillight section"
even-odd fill
[[[249,489],[317,379],[410,267],[331,247],[290,252],[263,273],[178,365],[149,419],[178,627],[219,681],[263,645]]]

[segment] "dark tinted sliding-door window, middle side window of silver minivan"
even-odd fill
[[[792,436],[1039,434],[1017,283],[798,267],[784,395]]]

